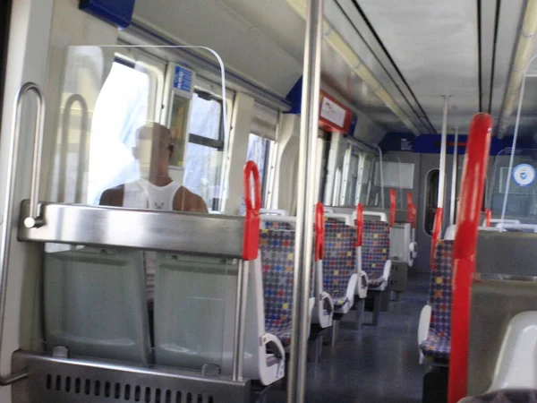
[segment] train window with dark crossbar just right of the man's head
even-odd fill
[[[199,194],[209,210],[217,210],[220,201],[224,145],[222,101],[206,92],[195,92],[184,157],[183,184],[191,192]]]

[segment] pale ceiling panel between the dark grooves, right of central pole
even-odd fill
[[[437,131],[442,95],[448,125],[466,125],[479,108],[477,7],[468,0],[359,0],[379,38]]]

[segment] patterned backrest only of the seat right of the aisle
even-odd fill
[[[440,336],[451,333],[451,262],[455,241],[440,240],[435,247],[434,264],[430,268],[430,328]]]

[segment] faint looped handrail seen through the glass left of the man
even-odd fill
[[[78,168],[76,174],[76,193],[74,202],[82,202],[82,184],[84,179],[84,168],[86,167],[87,160],[87,147],[88,147],[88,104],[86,100],[80,94],[72,94],[65,101],[64,106],[64,119],[62,121],[62,153],[60,156],[60,182],[58,184],[58,201],[65,202],[65,184],[67,182],[67,154],[69,152],[69,124],[71,122],[71,108],[72,105],[78,102],[81,105],[81,134],[80,134],[80,151]],[[83,162],[83,163],[82,163]]]

